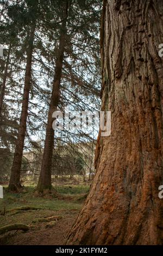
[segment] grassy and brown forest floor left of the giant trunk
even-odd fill
[[[82,208],[90,184],[55,180],[55,193],[41,196],[35,192],[34,183],[24,182],[20,193],[10,193],[4,188],[4,199],[0,199],[0,229],[5,225],[23,223],[29,230],[14,230],[0,235],[0,245],[65,244],[66,235]]]

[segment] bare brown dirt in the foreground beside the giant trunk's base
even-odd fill
[[[53,211],[54,214],[54,211]],[[0,245],[64,245],[65,236],[75,221],[78,210],[57,211],[63,217],[57,221],[54,227],[46,227],[46,223],[30,225],[30,230],[11,231],[0,236]]]

